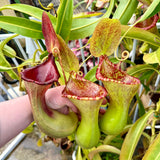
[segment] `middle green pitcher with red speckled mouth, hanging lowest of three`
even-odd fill
[[[75,133],[75,139],[77,144],[83,148],[92,148],[99,142],[98,115],[106,95],[107,92],[103,87],[85,80],[76,72],[71,72],[63,96],[75,104],[80,111],[81,120]]]

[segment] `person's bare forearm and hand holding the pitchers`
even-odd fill
[[[49,107],[67,114],[69,107],[77,112],[76,107],[62,97],[64,86],[49,89],[46,103]],[[28,95],[0,103],[0,147],[23,131],[33,121]]]

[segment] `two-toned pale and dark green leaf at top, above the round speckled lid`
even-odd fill
[[[113,19],[119,19],[121,24],[127,24],[138,5],[137,0],[120,0],[120,3],[113,14]]]

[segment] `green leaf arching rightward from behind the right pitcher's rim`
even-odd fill
[[[133,75],[137,76],[140,73],[143,73],[147,70],[154,70],[158,74],[160,74],[159,71],[156,68],[154,68],[152,65],[149,65],[149,64],[139,64],[139,65],[136,65],[136,66],[129,67],[129,68],[127,68],[127,73],[131,76],[133,76]]]

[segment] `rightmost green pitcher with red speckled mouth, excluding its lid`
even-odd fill
[[[103,82],[109,94],[109,107],[100,119],[100,128],[106,134],[119,134],[127,124],[128,109],[140,81],[122,71],[107,56],[100,57],[96,78]]]

